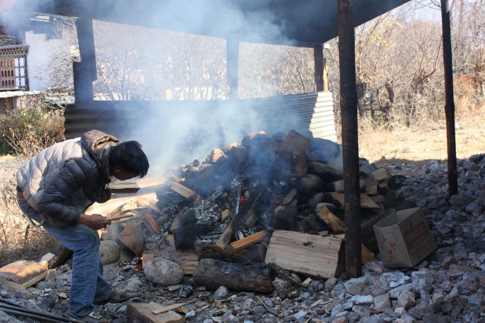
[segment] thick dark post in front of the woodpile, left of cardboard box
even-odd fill
[[[349,278],[362,275],[360,239],[359,138],[355,85],[353,0],[337,0],[340,57],[340,110],[344,157],[345,266]]]

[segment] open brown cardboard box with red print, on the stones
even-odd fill
[[[436,250],[420,207],[389,214],[373,228],[385,267],[412,267]]]

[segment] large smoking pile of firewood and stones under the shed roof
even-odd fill
[[[143,263],[167,257],[197,284],[259,292],[271,289],[270,264],[310,277],[339,275],[346,233],[339,154],[339,145],[296,131],[258,133],[175,169],[157,192],[157,212],[150,208],[168,243],[145,249]],[[365,264],[378,252],[372,225],[390,203],[390,173],[361,162]]]

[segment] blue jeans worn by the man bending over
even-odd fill
[[[42,221],[39,213],[27,201],[17,202],[26,216],[38,223]],[[69,311],[78,316],[88,315],[93,311],[94,299],[107,299],[111,293],[111,287],[103,277],[98,232],[83,224],[67,225],[60,229],[46,221],[42,227],[73,251]]]

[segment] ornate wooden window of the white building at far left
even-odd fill
[[[28,91],[27,45],[0,46],[0,90]]]

